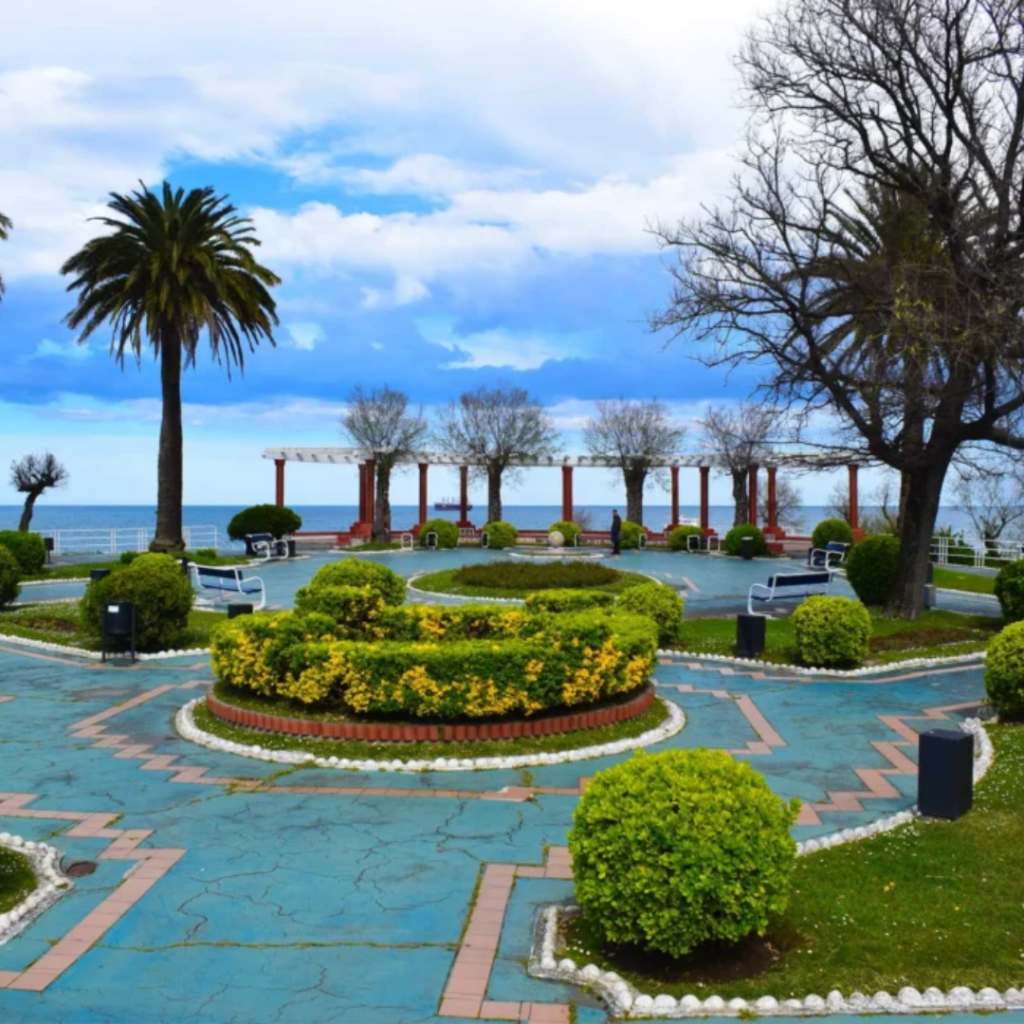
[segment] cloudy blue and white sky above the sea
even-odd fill
[[[344,443],[355,384],[400,388],[428,414],[519,385],[567,452],[596,400],[656,397],[698,451],[695,421],[755,380],[648,332],[670,290],[649,227],[727,187],[744,121],[732,57],[764,7],[16,5],[0,34],[0,211],[14,221],[0,245],[0,460],[56,454],[71,481],[50,502],[153,503],[157,369],[120,370],[102,331],[79,343],[59,268],[109,193],[164,179],[228,195],[283,278],[276,346],[230,381],[204,356],[185,376],[186,504],[270,500],[263,449]],[[819,504],[833,482],[799,486]],[[398,477],[395,502],[415,487]],[[351,504],[354,488],[340,469],[289,477],[295,504]],[[575,492],[622,500],[608,473],[577,474]],[[558,500],[545,471],[506,495]],[[712,500],[728,500],[724,480]],[[0,504],[16,501],[0,487]]]

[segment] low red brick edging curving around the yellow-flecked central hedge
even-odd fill
[[[302,718],[263,715],[226,703],[212,693],[206,706],[210,714],[232,725],[242,725],[264,732],[283,732],[293,736],[321,736],[326,739],[361,739],[368,742],[459,742],[479,739],[517,739],[520,736],[549,736],[555,733],[598,729],[616,722],[638,718],[654,702],[654,687],[649,683],[643,691],[626,703],[597,711],[552,715],[516,722],[483,722],[479,725],[389,725],[369,722],[316,722]]]

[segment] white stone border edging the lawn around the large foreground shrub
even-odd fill
[[[962,722],[961,728],[975,738],[974,780],[978,782],[992,766],[994,756],[992,741],[984,725],[976,718]],[[916,816],[918,811],[914,808],[900,811],[898,814],[862,827],[844,828],[820,839],[805,840],[797,844],[797,856],[802,857],[817,853],[819,850],[869,839],[906,824]],[[938,988],[927,988],[921,992],[910,986],[904,986],[895,995],[889,992],[876,992],[873,995],[853,992],[849,997],[834,989],[824,997],[812,993],[803,999],[781,1001],[772,995],[763,995],[751,1000],[734,998],[728,1002],[720,995],[710,995],[706,999],[692,994],[679,999],[672,995],[646,995],[614,971],[602,971],[595,964],[578,968],[575,962],[568,957],[557,959],[555,944],[559,914],[575,912],[579,912],[575,908],[559,905],[548,906],[541,911],[539,935],[535,935],[534,948],[530,950],[529,974],[538,978],[593,988],[607,1004],[611,1014],[616,1017],[633,1020],[738,1017],[740,1014],[754,1014],[759,1017],[822,1017],[836,1014],[920,1014],[937,1011],[1024,1008],[1024,992],[1020,989],[1008,988],[1006,992],[997,992],[994,988],[982,988],[974,992],[964,986],[957,986],[948,992]]]

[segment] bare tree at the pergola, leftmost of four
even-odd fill
[[[391,531],[391,473],[398,460],[426,437],[427,421],[422,408],[411,412],[409,396],[387,385],[371,391],[356,385],[346,403],[342,430],[377,466],[373,536],[384,541]]]

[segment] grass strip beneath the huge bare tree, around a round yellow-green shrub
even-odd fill
[[[962,615],[955,611],[926,611],[921,618],[888,618],[871,611],[871,656],[868,665],[886,665],[910,657],[942,657],[984,650],[1002,628],[1002,621],[987,615]],[[736,621],[729,618],[686,620],[676,646],[702,654],[735,652]],[[779,664],[797,660],[793,621],[769,618],[764,659]]]

